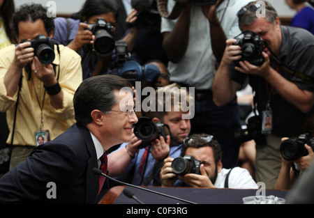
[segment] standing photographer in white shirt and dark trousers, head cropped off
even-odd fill
[[[224,107],[217,107],[211,84],[223,56],[225,40],[241,33],[236,13],[249,1],[184,1],[177,20],[162,17],[161,23],[163,49],[170,60],[170,81],[195,87],[192,133],[214,135],[223,150],[226,167],[238,164],[240,145],[233,137],[234,129],[240,127],[238,104],[234,98]],[[175,3],[168,0],[168,11],[172,11]]]

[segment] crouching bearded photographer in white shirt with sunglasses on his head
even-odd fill
[[[219,143],[207,134],[193,134],[184,140],[181,157],[190,155],[198,162],[198,170],[174,173],[183,169],[181,162],[168,157],[160,170],[163,187],[189,186],[205,188],[257,189],[257,184],[246,169],[235,167],[224,169]],[[177,163],[177,164],[176,164]],[[193,165],[193,164],[190,164]],[[182,170],[183,171],[183,170]],[[199,171],[196,173],[196,171]],[[178,176],[178,177],[177,177]],[[178,178],[176,180],[174,178]]]

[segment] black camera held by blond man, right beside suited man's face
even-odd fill
[[[134,125],[134,134],[138,139],[143,141],[142,144],[144,147],[160,137],[163,137],[166,141],[167,135],[171,136],[170,128],[167,124],[154,123],[151,118],[145,116],[139,118],[138,122]]]

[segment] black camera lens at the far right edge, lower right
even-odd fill
[[[305,151],[304,145],[297,140],[287,139],[281,143],[281,155],[287,160],[298,159]]]

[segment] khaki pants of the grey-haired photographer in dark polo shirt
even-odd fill
[[[268,134],[266,144],[256,145],[255,176],[266,189],[274,189],[281,171],[281,137]]]

